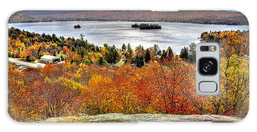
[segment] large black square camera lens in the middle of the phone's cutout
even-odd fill
[[[201,75],[216,75],[218,72],[218,61],[212,57],[203,57],[198,61],[198,72]]]

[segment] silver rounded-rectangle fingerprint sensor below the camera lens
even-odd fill
[[[202,81],[199,83],[200,92],[216,92],[217,89],[217,83],[214,81]]]

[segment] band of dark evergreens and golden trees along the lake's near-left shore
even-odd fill
[[[59,53],[67,55],[66,61],[72,63],[85,62],[88,64],[97,63],[100,65],[109,65],[119,61],[119,59],[126,59],[126,63],[137,63],[138,67],[144,65],[144,61],[148,62],[154,59],[156,55],[162,55],[169,51],[159,50],[155,45],[144,49],[139,45],[135,49],[130,47],[130,44],[123,44],[121,49],[117,49],[115,45],[109,46],[103,44],[95,46],[84,39],[84,35],[80,35],[80,39],[57,37],[55,34],[37,34],[27,31],[21,31],[17,28],[9,28],[9,51],[8,55],[12,58],[21,58],[26,61],[35,61],[40,59],[43,55],[57,56]],[[162,55],[166,57],[167,54]]]

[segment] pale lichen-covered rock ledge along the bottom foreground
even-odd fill
[[[79,116],[80,115],[80,116]],[[111,113],[88,116],[79,114],[78,117],[49,118],[41,122],[140,122],[140,121],[212,121],[236,122],[242,118],[220,115],[173,115],[173,114],[120,114]]]

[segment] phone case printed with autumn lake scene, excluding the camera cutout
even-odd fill
[[[18,11],[8,112],[21,122],[242,120],[249,26],[237,11]],[[196,45],[220,45],[220,93],[196,93]]]

